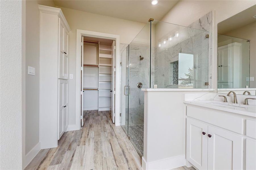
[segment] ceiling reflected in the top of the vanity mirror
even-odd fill
[[[231,30],[256,22],[256,5],[218,23],[218,34],[225,34]]]

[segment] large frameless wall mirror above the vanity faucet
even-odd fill
[[[256,5],[218,23],[218,93],[256,95]]]

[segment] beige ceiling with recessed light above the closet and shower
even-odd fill
[[[161,20],[178,0],[53,0],[56,6],[84,12],[147,23],[149,18]]]

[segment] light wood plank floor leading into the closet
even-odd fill
[[[65,132],[58,144],[42,149],[25,169],[141,169],[140,156],[109,111],[85,111],[83,128]]]

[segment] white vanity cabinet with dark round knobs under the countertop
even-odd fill
[[[186,160],[194,167],[256,169],[256,118],[194,105],[186,110]]]

